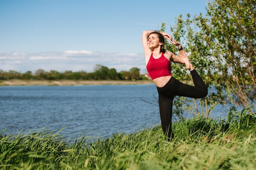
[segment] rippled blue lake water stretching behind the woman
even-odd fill
[[[160,124],[157,97],[154,84],[0,87],[0,131],[15,135],[65,126],[60,134],[69,141],[80,134],[132,133]],[[216,109],[216,116],[227,113]]]

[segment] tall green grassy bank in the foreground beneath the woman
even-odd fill
[[[107,139],[81,136],[72,144],[47,130],[15,136],[2,131],[0,169],[256,169],[256,116],[249,108],[229,113],[226,120],[175,122],[173,131],[173,142],[155,126]]]

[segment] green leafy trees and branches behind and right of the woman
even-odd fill
[[[207,15],[182,15],[171,26],[173,37],[183,44],[191,63],[195,66],[209,87],[207,98],[176,98],[174,113],[183,110],[194,115],[208,117],[220,103],[249,107],[256,99],[256,1],[255,0],[213,0],[209,2]],[[165,23],[161,31],[164,31]],[[167,44],[166,48],[177,52]],[[178,54],[178,53],[176,53]],[[172,74],[180,81],[189,81],[184,67],[172,64]],[[212,92],[211,88],[217,92]],[[197,106],[196,103],[199,103]]]

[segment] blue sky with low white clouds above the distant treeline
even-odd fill
[[[141,35],[175,17],[205,13],[207,0],[0,0],[0,70],[146,72]],[[175,37],[174,37],[175,38]]]

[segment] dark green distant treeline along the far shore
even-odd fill
[[[103,65],[95,65],[94,72],[58,72],[50,70],[45,72],[43,69],[38,69],[33,74],[31,71],[20,73],[14,70],[4,72],[0,70],[0,80],[141,80],[146,79],[144,75],[140,75],[139,68],[131,68],[129,71],[117,72],[115,68],[108,68]]]

